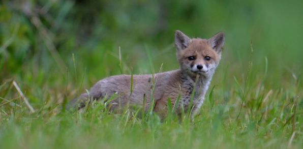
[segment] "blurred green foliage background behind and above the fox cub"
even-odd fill
[[[73,86],[69,93],[76,88],[84,92],[83,88],[110,75],[154,73],[162,64],[164,71],[177,69],[176,29],[200,38],[226,33],[213,84],[229,87],[233,76],[241,78],[247,73],[249,61],[254,77],[263,76],[265,59],[265,83],[270,87],[281,88],[294,82],[293,77],[302,76],[302,1],[39,0],[0,4],[0,82],[17,80],[40,103],[48,98],[43,96],[45,91],[63,94],[65,80]]]

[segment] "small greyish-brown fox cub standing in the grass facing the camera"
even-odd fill
[[[154,75],[117,75],[104,78],[90,88],[88,93],[74,99],[69,107],[80,109],[88,101],[104,97],[109,99],[114,95],[115,98],[109,101],[110,110],[129,106],[144,106],[144,109],[148,109],[152,105],[154,111],[164,118],[170,99],[176,114],[190,108],[193,116],[201,107],[211,78],[219,65],[224,41],[223,32],[210,39],[191,39],[176,31],[175,47],[179,69]],[[176,103],[178,105],[174,105]]]

